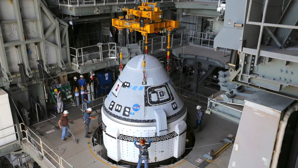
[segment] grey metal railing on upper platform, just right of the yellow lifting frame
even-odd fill
[[[189,44],[198,44],[200,43],[200,45],[203,44],[203,40],[207,40],[208,41],[208,47],[210,47],[210,41],[214,41],[214,38],[217,34],[215,33],[207,33],[207,32],[197,32],[197,31],[193,31],[190,30],[189,34],[188,34],[188,43]],[[199,36],[199,37],[198,37]],[[212,37],[214,36],[214,37]],[[200,42],[197,42],[197,39],[200,40]],[[213,47],[213,46],[211,46]]]

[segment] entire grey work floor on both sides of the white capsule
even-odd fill
[[[184,98],[184,101],[187,105],[187,110],[191,118],[190,123],[187,124],[190,124],[191,127],[194,127],[196,122],[195,116],[197,112],[195,107],[197,105],[201,105],[202,108],[205,110],[207,108],[207,104],[198,104],[197,101],[189,98]],[[98,102],[94,102],[93,105],[98,104]],[[101,106],[97,106],[97,109],[99,109],[100,107]],[[111,167],[113,164],[103,160],[97,154],[97,151],[100,150],[100,147],[98,147],[97,145],[97,149],[94,149],[93,145],[90,143],[91,139],[84,138],[85,127],[83,124],[83,118],[81,118],[82,114],[80,110],[77,107],[70,107],[67,110],[70,113],[68,115],[68,118],[73,120],[73,123],[69,123],[69,126],[71,127],[72,131],[75,134],[75,137],[79,141],[78,144],[73,141],[73,137],[66,139],[66,142],[61,141],[62,130],[59,128],[58,125],[60,115],[58,115],[58,117],[56,118],[52,118],[49,121],[45,121],[43,123],[32,126],[31,130],[35,130],[36,128],[40,127],[40,129],[35,131],[35,133],[41,138],[42,141],[45,142],[45,144],[50,149],[53,149],[55,153],[60,155],[74,167]],[[96,116],[97,114],[94,112],[93,115]],[[92,120],[90,123],[90,131],[93,130],[94,132],[98,127],[97,124],[97,120]],[[195,146],[193,150],[181,161],[166,167],[206,167],[206,158],[204,158],[203,155],[207,152],[210,152],[211,149],[217,151],[222,146],[224,146],[225,143],[222,143],[222,140],[229,134],[235,136],[237,129],[238,124],[235,124],[217,115],[205,114],[203,119],[203,130],[199,133],[196,133],[196,130],[194,130]],[[49,130],[54,131],[51,133],[46,133]],[[36,136],[33,136],[33,138],[39,140]],[[48,151],[50,151],[50,149],[48,149]],[[228,155],[228,157],[229,156],[230,154]],[[47,158],[49,158],[50,161],[54,163],[52,158],[50,158],[49,156],[47,156]],[[201,163],[196,162],[198,158],[202,160]],[[183,164],[178,165],[181,162],[183,162]],[[54,165],[58,166],[58,164],[55,163]],[[117,165],[113,166],[115,167]],[[226,167],[227,166],[228,165],[226,165]]]

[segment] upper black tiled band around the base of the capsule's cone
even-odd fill
[[[111,115],[112,117],[114,118],[118,118],[119,120],[123,120],[123,121],[128,121],[128,122],[135,122],[135,123],[151,123],[151,122],[156,122],[155,119],[151,119],[151,120],[138,120],[138,119],[131,119],[131,118],[126,118],[126,117],[122,117],[122,116],[119,116],[119,115],[116,115],[114,113],[112,113],[111,111],[109,111],[107,109],[107,107],[105,107],[105,104],[103,104],[103,110],[104,112],[106,112],[108,115]],[[170,116],[167,116],[167,119],[170,119],[170,118],[173,118],[177,115],[180,115],[182,112],[184,112],[186,110],[186,107],[185,107],[185,104],[184,106],[182,107],[181,110],[179,110],[178,112],[176,112],[175,114],[173,115],[170,115]]]

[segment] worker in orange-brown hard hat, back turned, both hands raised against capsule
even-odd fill
[[[145,139],[141,139],[140,140],[140,144],[137,145],[136,144],[136,140],[134,140],[134,145],[137,148],[139,148],[139,150],[140,150],[139,161],[138,161],[137,168],[140,168],[141,167],[142,161],[144,161],[145,168],[148,168],[148,158],[149,158],[148,148],[151,145],[151,140],[149,140],[148,142],[149,142],[148,144],[145,144],[146,143]]]

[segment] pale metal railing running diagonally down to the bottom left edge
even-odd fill
[[[30,141],[34,141],[35,144],[38,144],[39,145],[40,150],[38,150],[38,152],[41,152],[42,158],[49,156],[51,158],[51,159],[49,159],[49,161],[50,160],[53,160],[54,161],[54,163],[52,163],[53,165],[54,164],[59,164],[59,167],[60,168],[63,168],[64,167],[63,165],[68,165],[69,167],[72,167],[73,168],[73,166],[71,164],[69,164],[67,161],[65,161],[61,156],[59,156],[57,153],[55,153],[53,149],[51,149],[43,141],[41,141],[41,138],[38,135],[36,135],[30,128],[28,128],[28,127],[26,127],[24,125],[25,130],[22,130],[22,125],[24,125],[24,124],[23,123],[20,123],[20,130],[21,130],[21,132],[25,132],[26,133],[27,141],[33,147],[34,147],[34,145]],[[32,138],[31,137],[31,134],[34,134],[39,139],[39,141],[36,141],[34,138]],[[30,138],[30,140],[29,140],[29,138]],[[53,155],[49,154],[49,152],[47,152],[47,151],[50,151],[50,153],[53,154]],[[64,161],[64,164],[62,163],[62,161]]]

